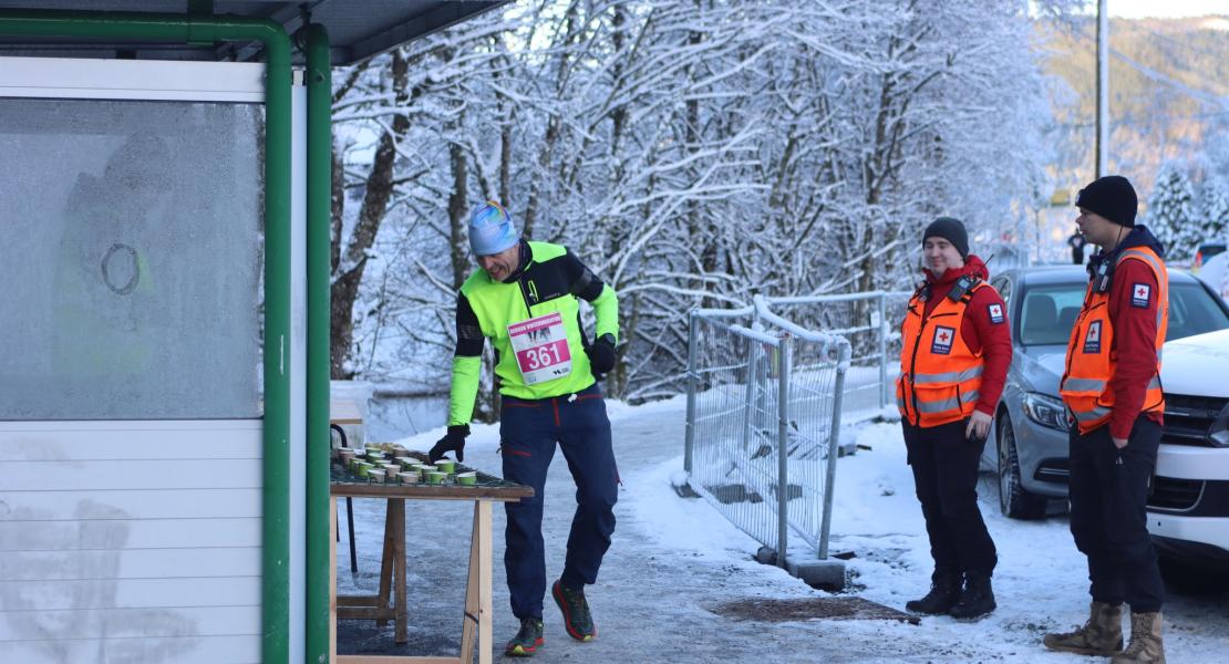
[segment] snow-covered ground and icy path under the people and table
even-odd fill
[[[546,646],[537,662],[819,663],[819,662],[1090,662],[1046,652],[1041,635],[1083,622],[1086,572],[1064,517],[1014,522],[998,512],[994,484],[982,484],[982,512],[999,551],[994,590],[999,608],[980,622],[923,617],[757,622],[713,610],[745,599],[830,598],[785,572],[756,563],[757,544],[702,500],[675,495],[670,475],[682,466],[682,399],[630,407],[608,404],[623,477],[618,527],[596,585],[587,595],[599,638],[568,638],[546,598]],[[466,463],[498,474],[497,426],[476,426]],[[892,608],[924,594],[930,558],[900,428],[862,423],[848,432],[860,446],[841,459],[832,550],[853,551],[844,594]],[[440,431],[407,438],[428,449]],[[546,488],[547,573],[559,574],[574,508],[571,477],[557,454]],[[351,577],[344,517],[338,554],[340,592],[374,592],[383,509],[355,501],[360,572]],[[451,503],[407,504],[410,556],[410,643],[396,647],[392,626],[343,621],[340,652],[456,653],[468,546],[468,509]],[[515,632],[503,576],[503,511],[495,511],[495,641]],[[1220,662],[1229,652],[1229,595],[1172,593],[1165,608],[1168,658]]]

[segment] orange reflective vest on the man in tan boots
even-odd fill
[[[1125,260],[1142,260],[1156,277],[1156,372],[1148,380],[1148,392],[1141,412],[1164,412],[1165,396],[1160,389],[1160,347],[1169,328],[1169,276],[1165,261],[1148,247],[1132,247],[1118,257],[1115,266]],[[1139,293],[1147,299],[1150,293]],[[1134,296],[1134,295],[1133,295]],[[1118,363],[1113,347],[1113,322],[1110,319],[1110,292],[1095,292],[1089,281],[1084,295],[1084,308],[1075,319],[1072,338],[1067,342],[1067,372],[1059,383],[1072,416],[1080,433],[1088,433],[1110,421],[1113,410],[1113,392],[1107,390]]]

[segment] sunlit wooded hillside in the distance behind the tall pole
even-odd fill
[[[1061,185],[1093,177],[1096,22],[1048,23],[1048,70],[1056,90]],[[1145,198],[1169,160],[1229,176],[1229,16],[1110,22],[1110,171],[1131,177]],[[1066,180],[1066,182],[1064,182]]]

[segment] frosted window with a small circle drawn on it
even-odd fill
[[[259,416],[263,125],[0,98],[0,420]]]

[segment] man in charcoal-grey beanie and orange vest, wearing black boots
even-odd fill
[[[976,619],[994,610],[994,541],[977,507],[977,466],[1011,363],[1003,298],[968,253],[964,223],[939,217],[922,234],[925,282],[901,326],[897,406],[930,539],[930,592],[905,608]]]

